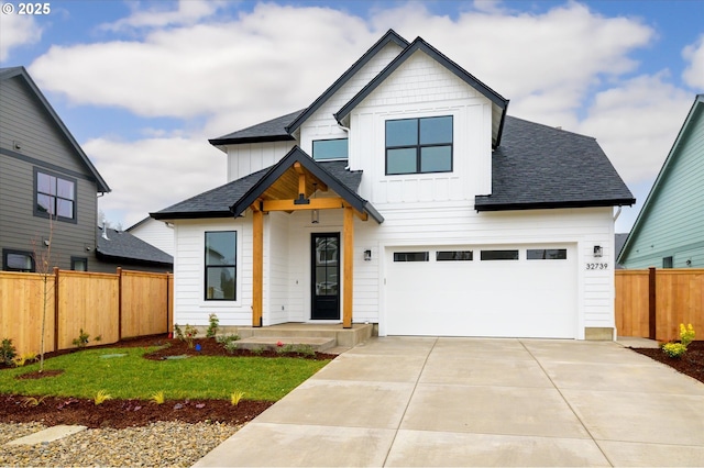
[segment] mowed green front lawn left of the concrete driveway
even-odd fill
[[[148,350],[153,350],[151,348]],[[246,400],[277,401],[329,360],[289,357],[215,357],[150,360],[145,348],[85,349],[44,361],[55,377],[15,379],[38,364],[0,371],[0,393],[94,398],[105,390],[112,398],[148,400],[158,391],[166,399],[227,400],[235,391]],[[125,354],[123,357],[101,357]]]

